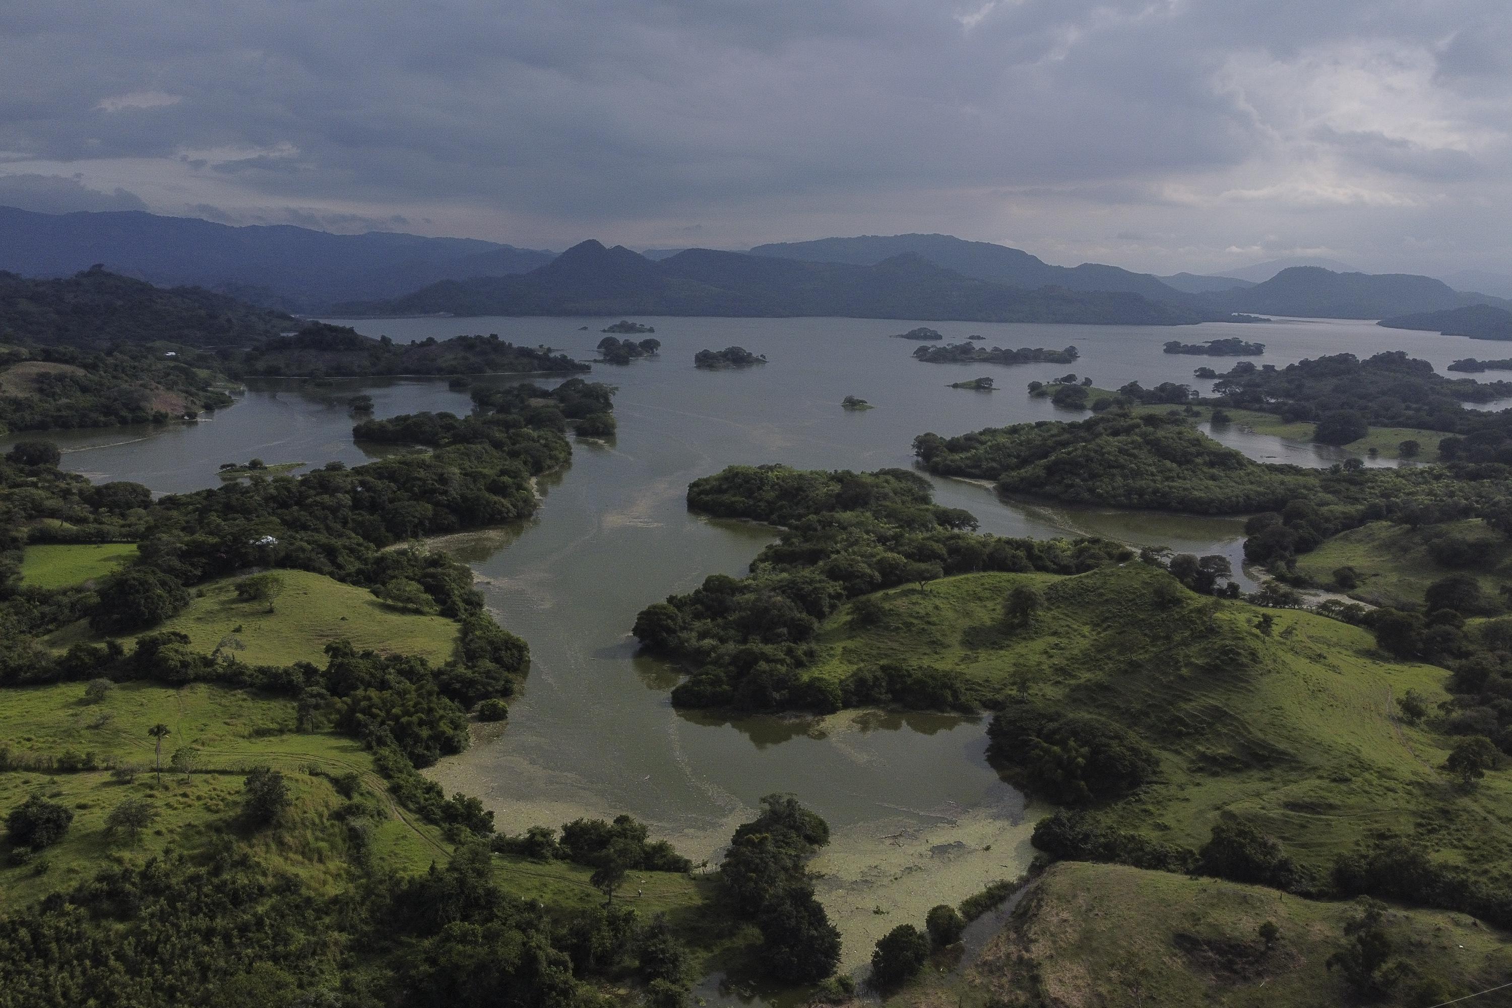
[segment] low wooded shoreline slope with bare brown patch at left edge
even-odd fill
[[[166,423],[231,405],[215,385],[219,361],[189,349],[166,357],[150,346],[100,351],[70,346],[0,352],[0,429],[51,431]],[[6,373],[9,372],[9,373]]]

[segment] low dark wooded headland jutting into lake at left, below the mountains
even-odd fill
[[[275,335],[230,357],[239,375],[299,375],[343,378],[366,375],[487,375],[529,372],[584,372],[565,354],[544,346],[517,346],[488,335],[434,335],[395,343],[387,335],[366,337],[349,326],[310,322],[292,335]]]

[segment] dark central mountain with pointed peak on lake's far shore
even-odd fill
[[[445,281],[404,298],[343,304],[334,311],[845,316],[1092,325],[1187,325],[1222,316],[1125,292],[1009,287],[963,277],[912,254],[874,266],[851,266],[688,249],[653,261],[593,240],[522,277]]]

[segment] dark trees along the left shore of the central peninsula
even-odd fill
[[[851,682],[810,679],[820,623],[847,598],[969,571],[1080,573],[1126,559],[1104,540],[977,535],[975,518],[933,503],[928,481],[875,473],[732,465],[688,487],[694,511],[785,526],[747,577],[714,574],[644,609],[635,636],[692,677],[673,691],[689,707],[838,710],[910,691],[928,706],[962,704],[922,669],[863,669]]]

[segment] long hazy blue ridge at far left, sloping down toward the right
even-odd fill
[[[142,212],[0,207],[0,271],[71,277],[95,263],[160,286],[198,286],[287,311],[387,298],[437,280],[522,274],[553,252],[387,231],[230,227]]]

